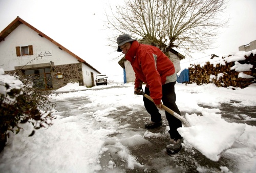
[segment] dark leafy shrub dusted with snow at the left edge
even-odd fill
[[[1,69],[1,68],[0,68]],[[3,70],[3,69],[2,69]],[[3,150],[9,132],[18,134],[19,123],[29,122],[34,129],[52,125],[55,118],[49,100],[50,90],[32,87],[33,78],[15,73],[0,73],[0,152]],[[8,78],[8,80],[5,80]],[[9,82],[9,83],[8,83]],[[33,130],[29,136],[34,135]]]

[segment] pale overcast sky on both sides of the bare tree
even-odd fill
[[[101,73],[109,76],[120,75],[122,69],[115,52],[107,38],[113,35],[103,30],[104,8],[106,2],[120,3],[118,0],[0,0],[0,31],[4,30],[17,16],[45,33],[71,52],[86,60]],[[219,35],[217,49],[205,54],[195,54],[194,59],[210,54],[227,54],[238,51],[238,47],[247,45],[256,39],[256,1],[230,0],[227,15],[230,15],[230,27]],[[114,53],[112,53],[114,52]],[[191,60],[191,59],[190,59]],[[181,61],[181,66],[188,59]],[[193,61],[191,61],[193,63]]]

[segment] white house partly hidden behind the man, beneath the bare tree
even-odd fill
[[[178,73],[180,68],[180,60],[185,58],[184,55],[180,54],[174,49],[169,51],[170,60],[174,63],[175,71]],[[135,73],[130,61],[127,61],[124,57],[118,61],[118,64],[123,68],[124,71],[124,82],[134,82]]]

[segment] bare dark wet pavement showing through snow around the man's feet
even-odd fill
[[[224,118],[228,122],[256,125],[256,121],[248,121],[243,118],[245,117],[245,114],[249,115],[252,118],[256,118],[256,106],[240,107],[238,109],[237,107],[230,106],[230,104],[222,104],[220,110],[222,111],[222,118]],[[119,121],[120,125],[125,125],[127,123],[131,124],[131,126],[129,126],[129,129],[126,130],[141,131],[143,129],[144,132],[144,123],[150,120],[147,112],[144,110],[143,107],[141,107],[141,115],[137,115],[135,113],[133,115],[129,115],[129,118],[123,118],[125,116],[120,117],[120,113],[122,115],[125,115],[127,113],[130,114],[130,111],[131,110],[128,109],[126,111],[118,112],[116,115],[110,116]],[[155,129],[150,129],[149,132],[165,135],[158,138],[145,138],[146,140],[150,141],[150,143],[146,145],[142,144],[128,148],[131,152],[131,155],[133,155],[139,163],[145,165],[146,169],[141,169],[138,166],[134,169],[127,170],[125,168],[127,163],[125,163],[123,160],[120,160],[120,157],[117,156],[118,150],[114,150],[114,152],[112,152],[112,149],[109,149],[109,152],[107,152],[108,154],[105,154],[103,157],[101,157],[100,161],[102,165],[104,165],[104,161],[113,160],[116,163],[118,169],[121,169],[122,172],[221,172],[220,166],[228,166],[229,168],[233,168],[233,172],[236,172],[236,163],[229,160],[228,157],[225,158],[225,156],[223,156],[218,162],[214,162],[207,159],[204,155],[202,155],[191,146],[183,147],[176,155],[167,155],[165,152],[165,146],[168,144],[169,141],[169,135],[166,134],[167,120],[165,118],[164,112],[162,112],[161,114],[163,118],[163,126]],[[185,112],[181,112],[182,116],[184,116],[185,114]],[[120,134],[114,135],[118,137],[118,135]],[[185,143],[185,145],[189,144]],[[106,142],[104,147],[111,148],[111,142]],[[104,170],[99,172],[108,172],[110,170],[112,171],[112,169],[105,168]]]

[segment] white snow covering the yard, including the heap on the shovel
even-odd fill
[[[140,113],[142,96],[133,94],[134,85],[110,84],[93,88],[69,83],[51,95],[57,103],[53,126],[32,131],[31,124],[23,126],[24,131],[11,135],[7,146],[0,154],[0,172],[97,172],[103,169],[100,157],[108,148],[104,147],[108,135],[121,133],[130,124],[120,126],[110,114],[119,114],[123,109]],[[217,88],[214,84],[176,84],[177,105],[191,127],[179,128],[185,139],[184,148],[194,147],[212,161],[223,155],[236,164],[239,172],[254,172],[256,169],[256,127],[247,125],[255,121],[244,112],[244,123],[229,123],[222,118],[220,105],[244,107],[256,105],[256,85],[245,89]],[[80,90],[80,91],[77,91]],[[69,92],[73,91],[73,92]],[[60,93],[66,92],[66,93]],[[76,102],[72,107],[71,101]],[[204,108],[200,105],[213,107]],[[59,110],[58,110],[59,109]],[[68,110],[68,111],[65,111]],[[201,113],[203,116],[198,115]],[[256,114],[256,111],[253,113]],[[164,113],[162,114],[164,116]],[[123,116],[123,115],[120,115]],[[236,115],[234,115],[236,116]],[[235,117],[234,117],[235,118]],[[167,131],[167,129],[166,129]],[[143,127],[138,134],[130,134],[115,145],[122,148],[118,156],[127,161],[127,168],[141,165],[126,145],[148,143],[146,136],[158,138],[161,134],[149,133]],[[163,146],[164,148],[165,146]],[[108,168],[115,170],[113,160]],[[222,172],[231,172],[228,165],[222,165]],[[170,170],[171,171],[171,170]],[[204,172],[198,168],[199,172]]]

